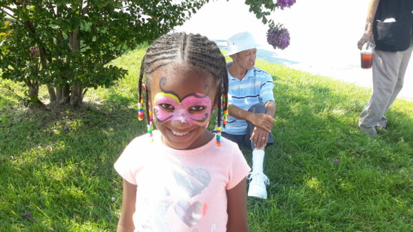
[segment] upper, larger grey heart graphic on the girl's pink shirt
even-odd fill
[[[173,170],[173,177],[178,186],[191,198],[200,194],[211,180],[209,171],[203,167],[197,167],[195,169],[180,167],[180,169]]]

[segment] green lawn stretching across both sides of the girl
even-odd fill
[[[112,166],[145,133],[136,120],[143,53],[114,61],[129,76],[90,90],[77,111],[23,107],[0,85],[0,231],[115,230],[122,182]],[[397,99],[388,131],[370,137],[356,127],[370,89],[257,66],[275,80],[276,143],[266,151],[269,199],[248,199],[251,231],[413,231],[413,103]]]

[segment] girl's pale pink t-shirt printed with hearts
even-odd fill
[[[224,232],[226,190],[243,180],[250,167],[238,146],[215,138],[191,150],[166,147],[160,132],[135,138],[114,167],[136,184],[135,232]]]

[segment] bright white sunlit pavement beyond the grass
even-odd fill
[[[225,45],[232,34],[250,31],[262,44],[258,59],[297,70],[372,87],[371,70],[360,68],[357,41],[363,33],[368,1],[297,0],[290,9],[273,12],[273,19],[290,31],[290,46],[274,50],[266,43],[262,25],[241,0],[211,1],[177,31],[200,33]],[[413,101],[413,61],[399,98]]]

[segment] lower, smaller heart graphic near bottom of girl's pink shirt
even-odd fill
[[[207,208],[207,204],[204,202],[196,201],[191,204],[186,200],[180,200],[174,206],[176,215],[189,227],[198,224],[207,213]]]

